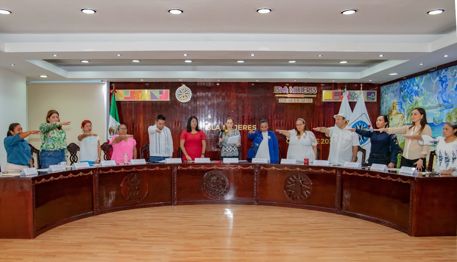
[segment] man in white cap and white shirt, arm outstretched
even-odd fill
[[[356,162],[359,138],[347,128],[346,115],[340,113],[333,116],[336,127],[313,128],[315,131],[325,133],[330,137],[329,162],[331,164],[343,165],[344,162]]]

